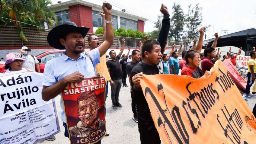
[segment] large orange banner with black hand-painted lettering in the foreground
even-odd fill
[[[143,75],[140,85],[164,144],[253,144],[256,123],[221,61],[212,75]]]

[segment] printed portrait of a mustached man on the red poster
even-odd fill
[[[86,138],[90,133],[104,127],[105,121],[98,117],[99,102],[94,91],[82,93],[77,98],[79,121],[69,127],[70,136]]]

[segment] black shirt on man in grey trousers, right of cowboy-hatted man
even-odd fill
[[[115,59],[116,61],[109,59],[107,61],[107,68],[110,69],[110,77],[112,80],[116,80],[118,78],[121,78],[122,72],[121,72],[121,66],[119,63],[120,57],[117,56]]]

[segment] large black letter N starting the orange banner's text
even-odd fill
[[[160,84],[160,85],[161,85],[161,84]],[[159,92],[159,91],[160,91],[160,90],[158,90],[158,92]],[[168,120],[168,118],[167,118],[167,116],[166,116],[166,114],[165,114],[165,113],[169,113],[169,114],[170,114],[170,111],[168,110],[168,107],[167,107],[166,103],[165,103],[166,109],[163,110],[162,107],[160,106],[160,104],[158,103],[158,101],[157,101],[155,95],[152,93],[152,91],[151,91],[150,88],[148,88],[148,87],[145,88],[145,95],[146,95],[147,93],[149,93],[151,99],[153,100],[154,105],[156,106],[155,109],[156,109],[156,111],[157,111],[157,113],[158,113],[158,115],[159,115],[158,121],[157,121],[157,123],[158,123],[158,128],[160,128],[160,126],[163,125],[164,128],[165,128],[165,131],[166,131],[166,133],[167,133],[167,135],[168,135],[169,140],[172,141],[172,139],[171,139],[170,136],[169,136],[170,134],[169,134],[168,131],[167,131],[167,129],[168,129],[168,127],[169,127],[170,130],[171,130],[171,132],[172,132],[172,134],[173,134],[174,137],[176,138],[177,142],[178,142],[179,144],[183,144],[181,138],[179,137],[178,133],[175,131],[174,127],[171,125],[170,120]],[[165,94],[164,94],[163,91],[162,91],[162,93],[163,93],[163,97],[165,98]],[[164,100],[165,100],[165,99],[164,99]],[[163,120],[161,119],[160,115],[163,117]],[[170,114],[170,115],[171,115],[171,114]],[[188,144],[188,143],[187,143],[187,144]]]

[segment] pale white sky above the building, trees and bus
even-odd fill
[[[69,0],[52,0],[53,4],[58,1],[66,2]],[[97,5],[102,5],[103,0],[84,0]],[[157,15],[160,15],[161,4],[167,6],[170,15],[172,15],[172,5],[174,2],[181,5],[184,14],[187,13],[187,6],[192,4],[194,7],[197,3],[202,7],[202,26],[211,25],[211,27],[205,32],[206,38],[213,37],[213,34],[217,32],[219,35],[228,30],[229,33],[233,33],[248,28],[256,28],[256,1],[255,0],[106,0],[109,2],[115,10],[121,11],[125,9],[127,13],[138,15],[143,18],[147,18],[145,22],[144,32],[150,32],[155,30],[154,21],[157,21]],[[171,17],[171,16],[170,16]],[[185,28],[185,27],[184,27]],[[186,30],[186,28],[185,28]]]

